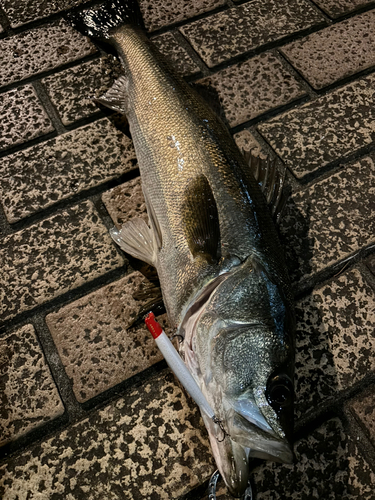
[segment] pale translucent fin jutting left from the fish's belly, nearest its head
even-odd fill
[[[130,220],[120,230],[114,227],[110,230],[110,234],[124,252],[147,264],[156,265],[158,254],[156,240],[143,219]]]

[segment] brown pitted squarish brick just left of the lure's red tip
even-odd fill
[[[46,317],[79,402],[163,359],[146,326],[129,327],[152,285],[138,271]],[[158,318],[167,334],[166,315]]]

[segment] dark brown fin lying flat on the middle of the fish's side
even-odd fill
[[[193,179],[185,190],[182,220],[193,257],[217,261],[220,257],[219,216],[211,186],[204,175]]]

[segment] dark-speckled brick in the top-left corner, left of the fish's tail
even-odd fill
[[[45,0],[2,0],[4,9],[13,28],[22,26],[30,21],[42,19],[56,12],[76,7],[88,0],[59,0],[58,2],[46,2]]]

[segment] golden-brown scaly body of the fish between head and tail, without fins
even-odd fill
[[[198,271],[197,263],[192,262],[181,227],[181,205],[188,183],[200,174],[209,179],[219,210],[221,246],[228,255],[245,259],[262,252],[255,248],[254,235],[259,232],[255,210],[263,214],[262,227],[267,231],[274,232],[273,222],[255,182],[251,193],[253,206],[244,203],[228,158],[240,172],[244,160],[211,108],[165,65],[139,30],[127,27],[115,32],[113,38],[125,74],[129,75],[127,117],[143,190],[162,228],[158,275],[169,316],[178,324],[189,297],[220,272],[217,266],[211,269],[206,265]],[[131,77],[134,74],[142,76],[135,79]],[[221,139],[220,143],[215,136]],[[179,164],[181,159],[183,165]],[[246,230],[249,227],[250,231]],[[263,251],[267,246],[276,247],[277,237],[274,241],[268,239],[268,245],[258,243]],[[174,269],[178,270],[175,275]],[[198,282],[197,276],[202,278]]]

